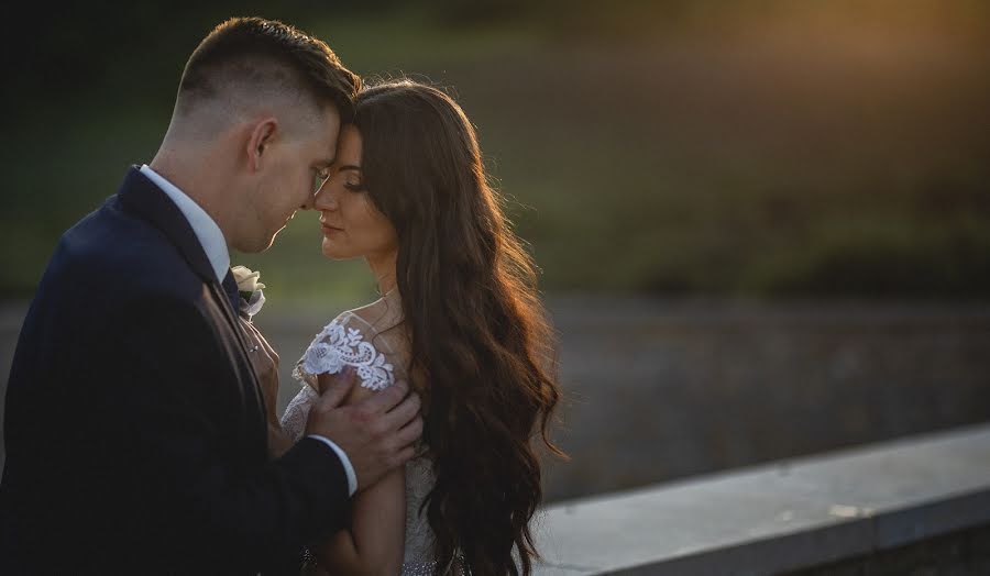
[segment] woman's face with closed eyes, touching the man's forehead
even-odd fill
[[[320,211],[323,255],[328,258],[380,258],[398,250],[395,228],[364,189],[361,133],[351,124],[341,128],[337,158],[314,207]]]

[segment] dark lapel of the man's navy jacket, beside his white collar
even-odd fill
[[[250,394],[264,419],[264,399],[261,395],[257,374],[254,372],[254,364],[248,356],[250,353],[248,352],[246,336],[238,324],[238,311],[233,309],[230,297],[217,279],[213,267],[204,252],[199,239],[193,232],[189,221],[175,206],[175,202],[154,182],[145,178],[136,167],[128,170],[117,197],[125,210],[158,229],[178,248],[189,264],[189,268],[209,287],[213,303],[223,310],[223,317],[238,341],[240,350],[238,362],[246,365],[248,373],[251,375],[251,381],[246,383],[245,387],[251,389]]]

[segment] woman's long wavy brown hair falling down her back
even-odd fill
[[[424,506],[437,572],[530,574],[542,498],[534,440],[560,398],[536,268],[490,185],[474,128],[444,92],[393,80],[359,93],[362,178],[398,234],[413,386],[437,483]],[[521,566],[517,566],[515,557]]]

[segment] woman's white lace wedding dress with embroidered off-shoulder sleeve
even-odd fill
[[[316,335],[293,372],[301,389],[282,417],[282,425],[294,442],[302,436],[309,410],[319,398],[315,390],[318,374],[336,374],[344,366],[353,366],[361,386],[372,390],[383,390],[396,378],[407,378],[408,343],[402,320],[400,301],[392,290],[376,302],[340,314]],[[404,576],[431,575],[437,565],[433,532],[426,514],[419,513],[435,479],[431,462],[426,456],[406,464]],[[462,571],[454,566],[450,573]]]

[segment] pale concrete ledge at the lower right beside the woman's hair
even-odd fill
[[[544,508],[540,575],[779,574],[990,524],[990,424]]]

